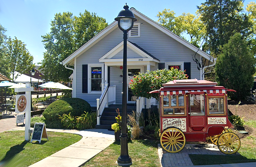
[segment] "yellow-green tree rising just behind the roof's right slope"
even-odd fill
[[[157,22],[189,43],[200,47],[200,42],[206,33],[206,29],[199,15],[182,13],[182,15],[176,17],[175,14],[170,9],[164,9],[162,12],[158,12]],[[189,35],[189,39],[184,34]]]

